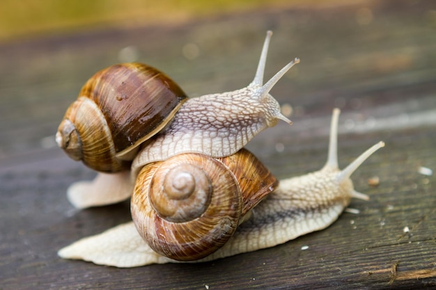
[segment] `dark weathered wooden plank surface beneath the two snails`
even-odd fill
[[[435,289],[436,178],[419,170],[436,169],[433,4],[266,9],[1,45],[0,289]],[[233,90],[251,81],[267,29],[274,36],[266,76],[302,59],[272,91],[295,108],[294,124],[263,132],[249,149],[278,177],[316,170],[339,106],[341,166],[378,140],[387,143],[353,175],[357,190],[371,195],[352,201],[360,214],[204,264],[119,269],[57,257],[72,241],[130,220],[128,202],[77,211],[65,198],[68,184],[94,175],[53,147],[65,108],[88,76],[132,46],[139,61],[171,75],[189,95]],[[190,60],[185,56],[195,54],[182,51],[192,44],[199,54]],[[377,187],[368,185],[374,176]]]

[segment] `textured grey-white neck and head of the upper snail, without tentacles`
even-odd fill
[[[214,157],[234,154],[281,118],[280,106],[273,97],[265,95],[262,100],[253,97],[258,89],[249,86],[188,99],[169,128],[139,152],[132,165],[133,172],[146,163],[185,152]]]

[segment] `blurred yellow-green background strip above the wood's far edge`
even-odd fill
[[[174,23],[296,2],[307,3],[303,0],[0,0],[0,40],[98,26]]]

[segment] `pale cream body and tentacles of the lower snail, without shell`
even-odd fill
[[[243,252],[279,245],[303,234],[331,225],[348,206],[351,198],[368,200],[357,193],[350,175],[384,143],[380,142],[361,154],[343,170],[337,162],[337,126],[335,109],[325,166],[316,172],[283,179],[279,187],[249,211],[231,239],[219,250],[198,261],[210,261]],[[173,260],[153,251],[139,236],[133,223],[81,239],[59,250],[65,259],[83,259],[107,266],[134,267],[164,264]]]

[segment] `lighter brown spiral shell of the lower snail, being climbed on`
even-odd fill
[[[201,259],[221,248],[276,186],[277,179],[248,150],[223,158],[178,154],[139,172],[132,218],[159,254]]]

